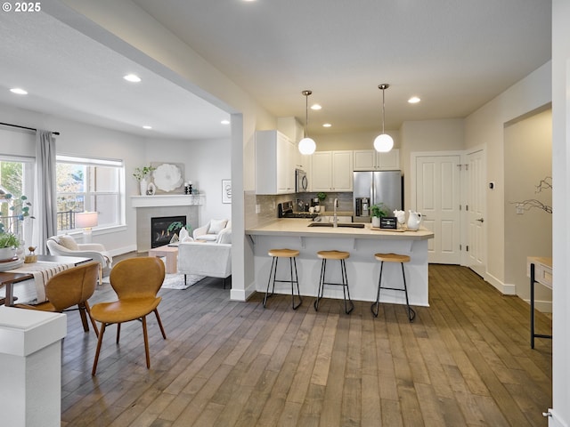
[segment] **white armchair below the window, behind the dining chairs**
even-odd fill
[[[47,250],[57,256],[83,256],[99,262],[99,284],[102,283],[103,269],[110,269],[113,258],[100,243],[77,243],[71,236],[52,236],[47,239]]]

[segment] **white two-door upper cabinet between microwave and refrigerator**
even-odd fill
[[[353,152],[315,151],[311,156],[312,191],[352,191]]]

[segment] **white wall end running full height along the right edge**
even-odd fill
[[[570,425],[570,2],[552,0],[552,173],[554,179],[553,419],[550,427]]]

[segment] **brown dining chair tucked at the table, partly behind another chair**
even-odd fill
[[[79,310],[83,330],[89,332],[89,324],[87,323],[87,317],[89,317],[95,334],[98,336],[99,330],[91,317],[89,302],[87,302],[95,292],[98,277],[99,262],[79,264],[77,267],[61,271],[47,281],[45,284],[47,301],[39,304],[16,304],[15,307],[52,312]],[[75,305],[77,305],[77,309],[72,309],[71,307]]]

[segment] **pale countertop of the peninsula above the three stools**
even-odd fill
[[[364,224],[363,229],[350,227],[307,227],[312,221],[306,219],[280,219],[246,230],[251,236],[300,236],[305,238],[379,238],[394,240],[426,240],[434,238],[430,230],[395,231],[372,229]]]

